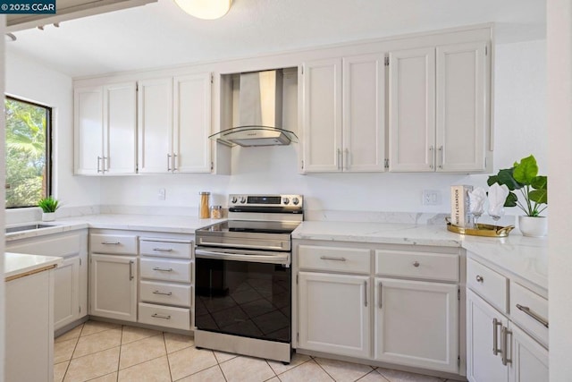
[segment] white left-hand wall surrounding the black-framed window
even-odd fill
[[[5,92],[7,94],[53,107],[55,179],[53,193],[55,197],[60,199],[66,207],[98,204],[99,180],[73,176],[73,87],[71,78],[15,54],[5,55],[5,71]],[[16,215],[25,213],[22,210],[8,210],[7,212],[9,223],[14,221]]]

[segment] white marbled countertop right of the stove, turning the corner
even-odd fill
[[[446,225],[415,225],[305,221],[293,239],[380,244],[461,247],[504,276],[548,297],[548,239],[524,237],[517,230],[508,237],[479,237],[451,233]]]

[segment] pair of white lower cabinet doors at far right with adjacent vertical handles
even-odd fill
[[[467,379],[547,382],[548,350],[467,290]]]

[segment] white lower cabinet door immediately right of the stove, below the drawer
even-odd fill
[[[369,277],[299,273],[299,347],[370,357]]]

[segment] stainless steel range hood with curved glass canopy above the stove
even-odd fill
[[[282,146],[298,142],[282,126],[282,71],[240,74],[239,126],[209,138],[228,146]]]

